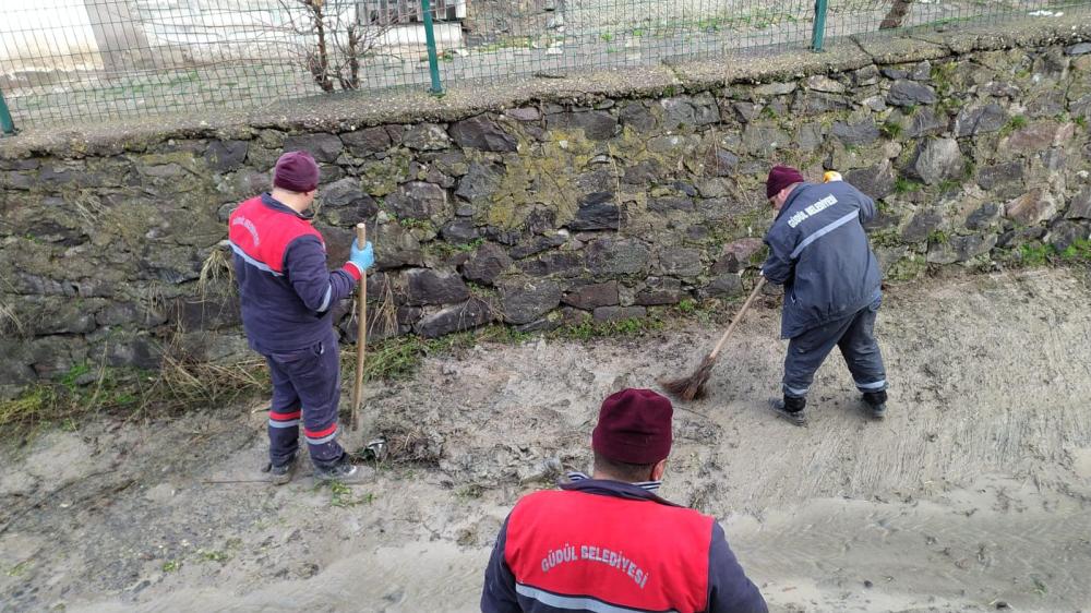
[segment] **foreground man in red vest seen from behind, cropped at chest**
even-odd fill
[[[602,402],[591,477],[524,496],[484,576],[481,611],[768,611],[716,519],[657,494],[670,400],[624,389]]]

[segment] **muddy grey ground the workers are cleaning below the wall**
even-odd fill
[[[664,495],[716,515],[776,611],[1091,608],[1091,289],[1047,269],[887,292],[889,416],[839,359],[807,429],[766,412],[776,301],[740,326],[711,397],[675,412]],[[91,420],[3,454],[0,609],[472,611],[489,546],[555,465],[583,469],[599,401],[685,373],[698,325],[430,358],[372,386],[348,490],[259,479],[264,414]],[[835,356],[837,358],[837,356]],[[208,480],[237,483],[208,483]]]

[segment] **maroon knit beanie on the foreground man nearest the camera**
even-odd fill
[[[607,459],[656,464],[671,453],[671,401],[650,389],[622,389],[602,401],[591,448]]]

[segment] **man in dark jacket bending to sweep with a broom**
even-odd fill
[[[815,371],[837,346],[872,417],[882,419],[887,381],[874,335],[880,279],[863,228],[875,216],[875,202],[836,176],[808,183],[788,166],[769,171],[766,196],[777,218],[765,237],[769,257],[762,274],[784,285],[780,330],[791,339],[784,397],[774,410],[806,424],[803,409]]]

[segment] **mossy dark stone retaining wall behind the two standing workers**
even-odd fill
[[[814,178],[837,169],[879,202],[870,230],[888,278],[1082,244],[1091,44],[921,46],[772,81],[751,71],[652,95],[634,84],[433,122],[343,118],[303,132],[267,120],[37,148],[5,139],[0,388],[83,363],[155,368],[168,349],[245,354],[225,220],[285,149],[322,165],[315,226],[332,264],[352,226],[369,225],[376,339],[733,297],[763,255],[774,163]],[[351,339],[348,308],[338,327]]]

